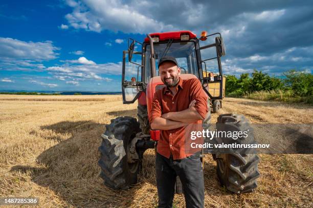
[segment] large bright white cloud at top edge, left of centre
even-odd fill
[[[126,33],[174,30],[172,25],[157,21],[149,13],[144,13],[144,11],[149,11],[145,7],[151,7],[153,3],[133,2],[136,7],[139,7],[138,11],[136,7],[130,6],[131,4],[127,5],[121,0],[82,0],[79,2],[66,1],[66,3],[73,7],[73,12],[66,14],[65,18],[75,29],[95,32],[107,29]]]

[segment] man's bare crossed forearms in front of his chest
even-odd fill
[[[203,120],[204,118],[194,108],[196,100],[192,100],[189,108],[179,112],[169,112],[155,118],[151,123],[152,129],[170,130]]]

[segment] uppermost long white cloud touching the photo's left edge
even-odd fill
[[[33,61],[48,61],[57,58],[58,54],[52,41],[25,42],[12,38],[0,37],[0,58],[27,59]]]

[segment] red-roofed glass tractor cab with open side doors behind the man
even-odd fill
[[[200,41],[208,44],[200,46]],[[219,103],[217,107],[221,107],[225,95],[225,77],[222,76],[220,60],[224,55],[225,46],[220,33],[207,35],[203,32],[198,39],[190,31],[178,31],[152,33],[143,42],[128,39],[128,50],[123,51],[123,103],[133,103],[139,98],[139,102],[148,105],[149,110],[155,89],[164,86],[158,79],[158,62],[164,56],[172,56],[181,67],[181,74],[193,74],[202,82],[214,111],[216,102]]]

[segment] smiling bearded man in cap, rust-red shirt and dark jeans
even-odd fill
[[[202,124],[207,95],[198,79],[183,80],[181,68],[173,57],[159,61],[159,73],[166,85],[155,92],[149,116],[151,129],[160,129],[155,170],[159,207],[172,207],[176,175],[182,181],[187,207],[204,207],[204,178],[199,152],[185,151],[186,126]]]

